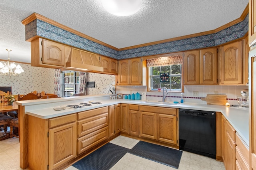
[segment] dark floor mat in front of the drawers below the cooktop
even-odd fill
[[[72,166],[79,170],[109,170],[130,149],[107,143]]]

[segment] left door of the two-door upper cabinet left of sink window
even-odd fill
[[[129,60],[119,61],[119,74],[118,74],[118,84],[127,85],[129,84],[130,68]]]

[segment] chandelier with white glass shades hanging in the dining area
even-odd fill
[[[18,66],[16,66],[16,64],[10,63],[10,51],[9,49],[6,49],[8,51],[8,61],[4,62],[4,61],[0,61],[0,75],[6,75],[6,76],[16,76],[17,74],[20,74],[22,72],[24,72],[24,70],[22,69],[22,67],[20,66],[20,64],[18,64]],[[12,71],[15,68],[14,72]]]

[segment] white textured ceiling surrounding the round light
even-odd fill
[[[216,29],[240,18],[248,0],[142,0],[138,13],[108,14],[101,0],[1,0],[0,59],[30,63],[22,20],[36,12],[116,48]]]

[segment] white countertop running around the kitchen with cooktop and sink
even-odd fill
[[[111,96],[111,95],[110,95]],[[246,145],[249,146],[249,111],[248,108],[239,108],[239,107],[226,107],[226,106],[219,106],[219,105],[207,105],[207,104],[192,104],[192,103],[180,103],[177,105],[164,105],[164,104],[147,104],[144,103],[145,101],[142,100],[125,100],[125,99],[105,99],[102,100],[102,96],[94,96],[94,102],[102,102],[99,105],[93,105],[89,107],[83,107],[82,109],[69,109],[66,108],[62,111],[55,111],[54,107],[63,106],[64,103],[67,104],[78,104],[79,102],[90,100],[92,96],[89,97],[69,97],[69,98],[54,98],[53,100],[46,99],[46,100],[34,100],[32,101],[21,101],[17,102],[20,106],[30,106],[30,110],[25,111],[26,114],[32,115],[35,117],[39,117],[41,119],[48,119],[52,117],[58,117],[62,115],[68,115],[71,113],[77,113],[80,111],[86,111],[90,109],[96,109],[99,107],[110,106],[114,104],[138,104],[138,105],[146,105],[146,106],[160,106],[160,107],[172,107],[172,108],[179,108],[179,109],[194,109],[194,110],[204,110],[204,111],[218,111],[221,112],[224,117],[229,121],[229,123],[234,127],[240,137],[244,140]],[[100,100],[101,99],[101,100]],[[31,107],[35,105],[35,107]],[[40,105],[43,106],[40,107]]]

